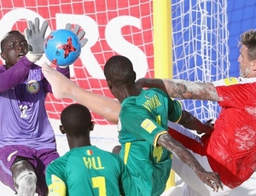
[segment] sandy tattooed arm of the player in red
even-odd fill
[[[197,83],[180,79],[140,78],[138,88],[159,88],[172,98],[218,101],[218,93],[212,83]]]

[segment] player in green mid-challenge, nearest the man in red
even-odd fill
[[[104,66],[108,88],[121,103],[119,155],[144,195],[160,195],[172,167],[171,153],[188,164],[202,182],[218,191],[218,174],[207,172],[195,157],[167,133],[167,120],[186,120],[181,105],[160,89],[137,89],[136,72],[125,56],[114,55]],[[180,119],[183,118],[183,119]]]

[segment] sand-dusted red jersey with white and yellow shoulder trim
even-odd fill
[[[222,107],[212,135],[203,135],[213,171],[235,188],[256,169],[256,78],[225,78],[213,83]]]

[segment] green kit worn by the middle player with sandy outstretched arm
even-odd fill
[[[156,145],[167,131],[167,119],[181,118],[179,101],[172,101],[160,89],[143,89],[127,97],[119,113],[120,157],[143,195],[160,195],[166,188],[172,167],[171,153]]]

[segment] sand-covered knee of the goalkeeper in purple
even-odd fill
[[[37,187],[37,176],[32,165],[25,159],[17,161],[11,167],[15,189],[18,196],[33,196]]]

